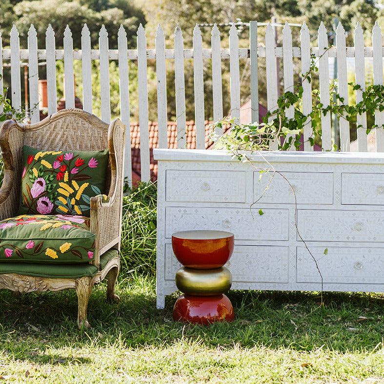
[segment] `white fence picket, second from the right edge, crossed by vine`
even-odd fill
[[[355,81],[365,91],[365,60],[363,28],[357,23],[355,28]],[[356,103],[363,101],[363,92],[356,90]],[[359,152],[367,152],[366,113],[357,115],[357,146]]]

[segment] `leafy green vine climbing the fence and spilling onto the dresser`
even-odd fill
[[[329,50],[330,48],[328,48]],[[324,51],[323,55],[327,50]],[[323,56],[322,55],[322,56]],[[318,58],[318,60],[321,57]],[[303,141],[303,128],[307,124],[311,124],[312,134],[308,138],[310,145],[315,142],[321,141],[321,127],[318,121],[321,116],[327,113],[332,113],[340,119],[345,119],[348,122],[356,122],[358,115],[363,113],[371,114],[372,116],[376,111],[384,110],[384,85],[369,85],[363,90],[362,86],[353,82],[348,85],[352,87],[353,91],[360,91],[362,101],[354,105],[345,103],[338,93],[337,81],[334,81],[329,86],[330,100],[329,105],[324,106],[320,100],[319,89],[312,90],[312,111],[308,115],[303,114],[303,82],[311,82],[313,75],[318,72],[317,62],[315,56],[311,55],[311,64],[308,72],[303,74],[302,81],[295,85],[293,91],[286,91],[277,100],[276,108],[269,110],[263,117],[263,122],[253,122],[250,124],[241,124],[237,119],[226,117],[212,124],[211,140],[215,141],[215,148],[227,149],[239,160],[243,157],[242,151],[260,151],[269,150],[272,142],[277,142],[277,149],[288,150],[292,145],[299,148]],[[293,108],[293,118],[286,117],[288,108]],[[223,128],[231,126],[229,132],[223,136],[215,135],[215,128]],[[377,124],[372,125],[366,129],[368,134],[372,128],[383,127]],[[357,128],[362,125],[357,125]],[[280,140],[277,140],[280,138]],[[334,149],[337,149],[336,144]]]

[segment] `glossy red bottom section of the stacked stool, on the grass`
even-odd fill
[[[225,295],[191,296],[183,294],[173,308],[173,320],[209,325],[231,322],[235,317],[232,303]]]

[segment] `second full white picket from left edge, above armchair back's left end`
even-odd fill
[[[36,29],[31,24],[28,30],[28,70],[29,70],[29,110],[31,122],[40,121],[39,112],[39,66],[38,66],[38,39]]]

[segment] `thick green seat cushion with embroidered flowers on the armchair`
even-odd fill
[[[94,260],[90,219],[69,215],[20,215],[0,221],[0,262],[88,263]]]

